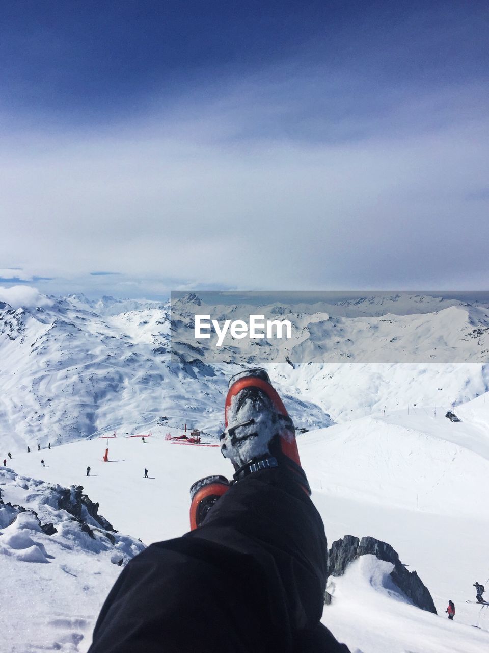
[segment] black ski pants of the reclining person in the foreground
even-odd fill
[[[305,492],[280,470],[252,473],[200,528],[129,562],[90,653],[349,653],[319,623],[326,554]]]

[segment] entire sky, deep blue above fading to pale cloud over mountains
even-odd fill
[[[3,3],[0,300],[487,289],[488,18]]]

